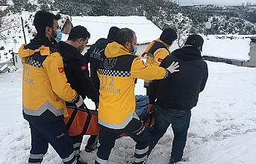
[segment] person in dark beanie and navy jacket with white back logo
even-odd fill
[[[108,43],[116,41],[116,33],[118,32],[119,27],[110,27],[110,30],[107,34],[107,39],[101,38],[93,44],[87,53],[84,54],[87,62],[90,62],[90,78],[93,82],[94,88],[99,94],[99,77],[97,75],[97,68],[103,59],[106,58],[104,55],[104,49]],[[96,150],[97,144],[99,141],[99,136],[92,135],[87,141],[87,145],[85,146],[85,151],[91,152]]]

